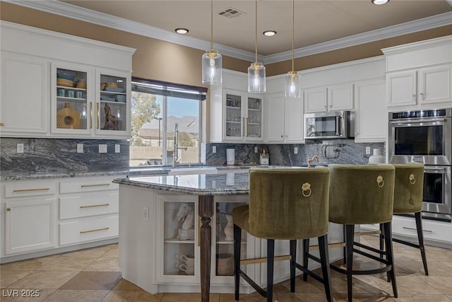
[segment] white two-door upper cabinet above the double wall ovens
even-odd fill
[[[383,52],[390,111],[451,107],[452,35]]]

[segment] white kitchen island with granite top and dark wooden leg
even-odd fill
[[[151,294],[201,291],[201,301],[209,301],[210,291],[234,291],[230,214],[233,207],[248,202],[248,173],[159,175],[114,182],[119,184],[119,266],[124,279]],[[191,214],[181,214],[187,208]],[[330,242],[342,241],[342,228],[331,226],[328,236]],[[249,234],[242,238],[242,259],[261,257],[261,240]],[[340,249],[335,250],[330,252],[331,260],[341,257]],[[278,245],[276,251],[287,255],[288,244]],[[192,271],[182,255],[193,255]],[[251,277],[265,285],[262,268],[246,265]],[[275,263],[276,282],[289,274],[288,262]],[[252,291],[242,287],[244,293]]]

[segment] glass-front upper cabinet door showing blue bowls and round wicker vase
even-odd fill
[[[93,69],[75,64],[52,64],[52,132],[89,134],[92,125]]]

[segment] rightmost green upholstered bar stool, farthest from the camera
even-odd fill
[[[415,214],[418,244],[393,238],[396,243],[419,248],[421,251],[424,272],[428,276],[427,257],[425,255],[424,234],[422,232],[422,196],[424,189],[424,164],[397,163],[396,180],[394,183],[394,214]],[[384,245],[384,236],[380,236],[380,247]]]

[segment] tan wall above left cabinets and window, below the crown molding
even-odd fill
[[[4,21],[135,48],[133,76],[203,86],[201,83],[203,50],[5,2],[0,2],[0,11],[0,18]],[[223,56],[223,68],[225,69],[246,72],[248,66],[249,62],[244,60]]]

